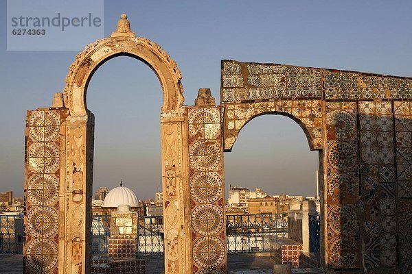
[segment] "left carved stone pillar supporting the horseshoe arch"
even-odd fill
[[[90,273],[94,116],[68,116],[66,124],[62,273]]]

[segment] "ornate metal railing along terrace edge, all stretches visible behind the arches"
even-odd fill
[[[22,253],[23,214],[0,215],[0,253]],[[285,238],[286,214],[226,215],[227,251],[247,253],[271,251],[271,238]],[[93,215],[91,252],[108,253],[111,215]],[[163,216],[139,216],[137,252],[164,253]]]

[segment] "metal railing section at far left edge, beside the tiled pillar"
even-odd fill
[[[0,214],[0,253],[23,253],[23,214]]]

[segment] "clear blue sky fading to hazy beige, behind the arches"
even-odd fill
[[[105,36],[122,13],[176,61],[187,105],[202,87],[219,101],[222,59],[412,76],[412,1],[105,1]],[[4,0],[0,23],[0,191],[21,196],[25,110],[52,103],[77,52],[6,51]],[[110,60],[87,102],[96,118],[94,186],[123,179],[140,199],[153,197],[161,186],[155,74],[131,58]],[[291,119],[261,116],[225,153],[225,168],[227,186],[314,195],[317,152]]]

